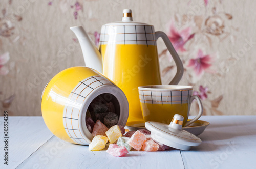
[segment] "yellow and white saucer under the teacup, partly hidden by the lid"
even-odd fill
[[[190,119],[188,119],[190,120]],[[204,132],[205,128],[209,125],[209,122],[203,121],[203,120],[197,120],[194,123],[190,124],[187,127],[182,127],[183,130],[186,130],[194,135],[200,135]],[[126,129],[129,131],[136,131],[139,129],[146,129],[145,126],[125,126]]]

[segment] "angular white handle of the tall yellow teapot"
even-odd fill
[[[170,81],[169,85],[177,85],[179,83],[179,81],[181,80],[181,77],[183,75],[184,72],[184,68],[183,68],[183,64],[180,60],[179,55],[177,54],[176,50],[174,49],[172,43],[170,42],[168,36],[162,32],[162,31],[157,31],[155,32],[155,36],[156,36],[156,40],[161,37],[167,47],[167,49],[169,50],[170,54],[172,55],[174,62],[177,66],[177,73],[174,76],[173,80]]]

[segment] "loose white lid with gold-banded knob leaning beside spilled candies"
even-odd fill
[[[189,150],[191,146],[199,146],[202,141],[197,136],[182,130],[183,116],[174,115],[169,125],[159,122],[146,122],[145,127],[151,131],[151,137],[164,145]]]

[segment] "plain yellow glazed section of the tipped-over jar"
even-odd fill
[[[49,130],[60,139],[75,143],[64,129],[63,110],[79,81],[94,75],[98,73],[90,68],[72,67],[58,73],[46,86],[41,100],[42,117]]]

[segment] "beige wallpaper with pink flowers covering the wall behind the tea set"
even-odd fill
[[[101,25],[121,20],[131,8],[134,20],[167,34],[179,54],[179,84],[194,87],[204,115],[256,114],[255,1],[52,0],[0,2],[0,115],[40,116],[40,97],[59,71],[83,66],[70,26],[83,25],[99,44]],[[176,72],[172,56],[158,40],[162,83]],[[198,111],[194,103],[191,115]]]

